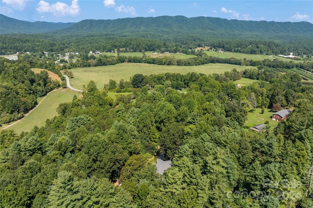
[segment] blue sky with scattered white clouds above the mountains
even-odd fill
[[[313,23],[313,0],[0,0],[0,13],[32,22],[182,15]]]

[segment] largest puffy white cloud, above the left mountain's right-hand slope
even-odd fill
[[[72,4],[68,6],[60,1],[49,4],[48,2],[41,0],[36,8],[39,13],[52,13],[55,16],[76,16],[80,12],[78,0],[72,0]]]

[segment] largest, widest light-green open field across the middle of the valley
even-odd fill
[[[88,68],[72,69],[74,77],[69,79],[72,87],[76,89],[83,89],[83,84],[88,85],[90,80],[95,81],[99,90],[102,90],[104,84],[108,84],[110,79],[119,80],[124,79],[129,81],[130,77],[135,74],[152,75],[162,73],[180,73],[187,74],[188,72],[209,74],[222,74],[226,71],[231,71],[236,68],[238,71],[243,71],[246,68],[254,68],[250,66],[239,66],[232,64],[204,64],[200,66],[163,66],[156,64],[144,63],[121,63],[110,66],[98,66]]]

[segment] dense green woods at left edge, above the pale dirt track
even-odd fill
[[[23,117],[37,105],[37,98],[60,86],[46,71],[35,74],[30,64],[0,57],[0,123]]]

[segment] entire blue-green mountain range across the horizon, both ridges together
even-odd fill
[[[86,19],[77,23],[28,22],[0,15],[1,35],[49,34],[59,36],[118,36],[138,38],[184,38],[185,36],[232,39],[312,39],[310,22],[274,22],[228,20],[211,17]]]

